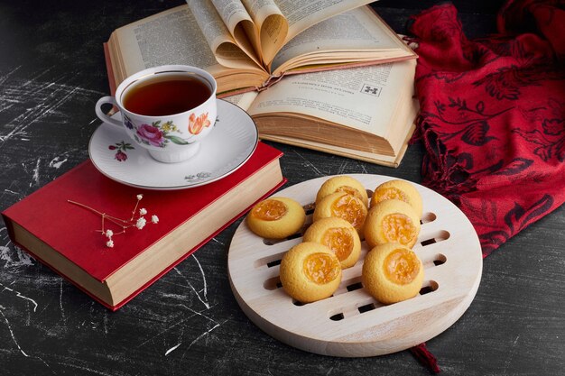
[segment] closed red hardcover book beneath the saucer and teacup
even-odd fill
[[[101,174],[90,160],[8,207],[10,239],[104,306],[116,310],[233,223],[286,181],[281,151],[259,142],[238,170],[208,185],[171,191],[132,188]],[[129,219],[137,195],[147,225],[113,236],[101,213]],[[159,218],[152,224],[151,216]],[[112,228],[107,223],[108,228]],[[113,230],[116,232],[116,230]]]

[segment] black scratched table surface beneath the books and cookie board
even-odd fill
[[[381,1],[396,32],[432,1]],[[108,94],[102,43],[117,27],[181,4],[0,2],[0,209],[88,158]],[[468,35],[495,31],[499,2],[456,2]],[[373,173],[420,182],[421,148],[398,169],[274,144],[288,185]],[[41,215],[41,213],[38,213]],[[10,243],[0,222],[0,374],[429,374],[412,354],[350,359],[306,353],[264,334],[227,280],[236,224],[112,313]],[[565,209],[486,258],[468,311],[427,345],[444,374],[558,375],[565,369]]]

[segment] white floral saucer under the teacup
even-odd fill
[[[119,118],[119,113],[116,114]],[[115,115],[115,116],[116,116]],[[179,163],[162,163],[116,125],[103,123],[88,145],[90,159],[108,178],[146,189],[183,189],[222,179],[251,157],[259,140],[244,110],[218,100],[218,120],[197,154]]]

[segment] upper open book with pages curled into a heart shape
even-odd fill
[[[187,0],[130,23],[106,43],[112,89],[140,70],[186,64],[208,70],[218,93],[268,87],[283,75],[416,55],[370,0]]]

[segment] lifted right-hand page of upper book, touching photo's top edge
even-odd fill
[[[274,2],[289,23],[286,40],[290,41],[313,24],[361,5],[367,5],[373,0],[274,0]]]

